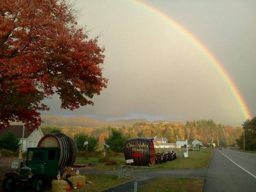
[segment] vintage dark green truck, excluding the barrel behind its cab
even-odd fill
[[[58,174],[59,148],[40,147],[28,148],[27,160],[18,162],[15,173],[5,174],[3,181],[3,191],[15,191],[18,183],[33,186],[34,191],[41,192],[45,183],[56,179]]]

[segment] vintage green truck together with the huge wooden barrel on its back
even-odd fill
[[[76,160],[76,143],[65,134],[44,135],[38,146],[27,149],[26,161],[18,162],[15,172],[5,174],[4,192],[15,191],[18,183],[32,185],[41,192],[47,181],[57,178],[60,167],[71,166]]]

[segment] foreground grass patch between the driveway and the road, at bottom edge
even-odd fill
[[[158,178],[149,184],[142,186],[138,192],[197,192],[202,191],[204,186],[203,179],[196,178]]]

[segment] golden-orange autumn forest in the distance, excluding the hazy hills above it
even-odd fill
[[[60,129],[62,133],[74,137],[76,133],[85,133],[99,138],[99,145],[102,145],[105,138],[111,134],[110,129],[121,130],[127,138],[137,137],[166,137],[169,142],[175,142],[178,139],[188,139],[189,142],[197,139],[205,145],[207,143],[217,143],[221,146],[234,146],[236,139],[243,133],[242,127],[233,127],[230,125],[216,124],[212,120],[187,121],[184,123],[173,122],[142,122],[122,127],[101,126],[101,127],[83,127],[83,126],[58,126],[42,125],[44,133],[50,132],[51,129]]]

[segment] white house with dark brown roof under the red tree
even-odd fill
[[[29,127],[29,128],[34,131],[29,131],[28,127],[25,127],[22,151],[26,151],[28,147],[36,147],[38,141],[44,136],[40,127],[38,129],[33,129],[33,127]],[[7,132],[11,132],[16,137],[20,138],[20,144],[21,144],[22,133],[23,133],[22,125],[7,126],[5,129],[0,130],[0,136],[4,135]]]

